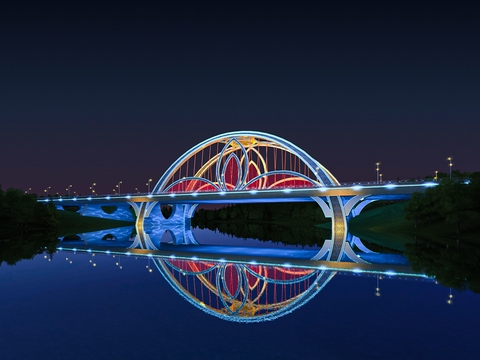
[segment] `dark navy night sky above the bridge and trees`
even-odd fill
[[[448,156],[480,170],[465,3],[68,3],[1,5],[3,189],[146,191],[236,130],[284,137],[341,182],[375,180],[378,161],[385,180],[447,172]]]

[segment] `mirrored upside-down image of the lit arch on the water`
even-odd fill
[[[235,322],[275,320],[313,298],[334,271],[156,259],[167,282],[202,311]]]

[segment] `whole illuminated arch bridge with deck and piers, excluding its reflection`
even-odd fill
[[[151,237],[165,231],[172,234],[175,244],[198,244],[190,222],[199,204],[314,201],[332,220],[332,238],[312,259],[340,261],[347,257],[365,262],[352,250],[354,245],[365,247],[348,234],[348,220],[373,201],[408,199],[413,192],[435,185],[342,186],[322,164],[291,142],[267,133],[238,131],[214,136],[192,147],[167,169],[150,194],[52,201],[59,209],[78,206],[84,216],[135,220],[138,235],[133,247],[154,250],[157,248]],[[162,215],[161,205],[173,207],[168,219]],[[107,214],[104,206],[114,206],[116,210]]]

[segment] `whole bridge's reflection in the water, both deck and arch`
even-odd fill
[[[59,250],[148,258],[189,303],[210,315],[235,322],[268,321],[291,313],[317,295],[338,271],[434,281],[412,271],[401,255],[394,255],[396,261],[382,254],[371,256],[377,261],[375,264],[354,262],[349,257],[348,261],[310,260],[308,252],[312,250],[168,244],[152,250],[138,242],[138,236],[134,241],[129,234],[128,227],[82,234],[60,243]],[[132,248],[132,242],[137,244],[136,248]]]

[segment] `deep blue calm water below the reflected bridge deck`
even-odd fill
[[[207,231],[204,233],[207,236]],[[221,241],[221,235],[214,236],[216,240],[212,241]],[[0,267],[0,314],[2,328],[8,329],[0,338],[4,358],[311,359],[320,354],[338,359],[405,359],[412,353],[414,358],[425,359],[477,356],[479,297],[471,292],[453,291],[453,304],[449,305],[450,289],[432,281],[396,276],[379,279],[352,272],[345,276],[320,269],[307,270],[313,275],[299,282],[299,287],[296,283],[269,283],[260,301],[254,302],[268,281],[260,279],[255,285],[258,277],[247,272],[248,289],[253,290],[247,296],[250,303],[240,308],[246,283],[240,287],[238,280],[220,283],[220,296],[226,306],[214,290],[217,272],[223,271],[221,266],[227,280],[243,276],[241,269],[227,261],[204,261],[203,265],[191,260],[169,262],[176,267],[165,265],[173,275],[170,282],[155,258],[134,253],[118,256],[59,251],[52,261],[40,255],[14,267]],[[213,266],[216,270],[201,275],[181,274],[195,267],[201,272]],[[260,273],[256,264],[250,269]],[[265,271],[261,274],[267,274],[266,279],[281,281],[306,272],[294,266],[277,270],[269,267]],[[330,273],[323,289],[288,313],[293,306],[287,307],[285,301],[311,287],[315,292],[319,284],[315,281],[322,272]],[[175,286],[172,278],[178,281]],[[229,294],[235,295],[239,288],[238,297],[231,299]],[[181,294],[181,289],[187,291]],[[255,308],[255,304],[269,304],[268,314],[285,316],[250,325],[225,321],[228,314],[232,317],[228,309],[243,310],[236,314],[241,319],[266,313],[265,307]],[[218,312],[205,311],[207,307]],[[29,346],[24,346],[26,339]]]

